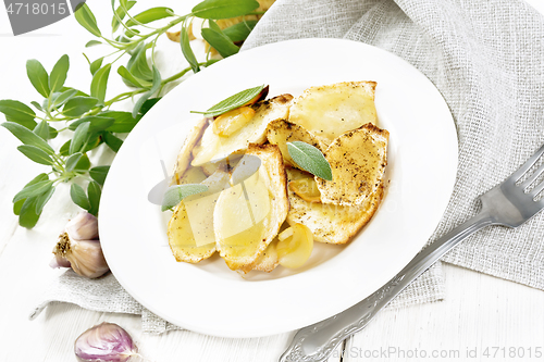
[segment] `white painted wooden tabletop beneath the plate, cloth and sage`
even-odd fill
[[[160,4],[183,13],[195,2],[164,0]],[[544,1],[528,2],[544,13]],[[109,1],[88,3],[107,28]],[[151,3],[159,4],[141,0],[139,7]],[[81,55],[82,45],[88,39],[73,17],[15,38],[7,14],[0,11],[0,99],[38,99],[26,80],[25,61],[39,59],[50,70],[64,52],[71,55],[67,84],[89,85],[90,74]],[[110,95],[122,89],[118,85]],[[46,168],[27,161],[16,146],[18,141],[0,128],[0,361],[75,361],[73,341],[101,321],[123,325],[149,361],[277,360],[294,333],[254,339],[215,338],[185,330],[150,336],[141,333],[138,316],[91,312],[64,303],[49,307],[29,322],[37,296],[61,273],[49,269],[50,251],[77,208],[69,201],[67,188],[60,187],[34,229],[17,226],[11,199]],[[445,265],[444,273],[445,301],[380,313],[346,342],[344,353],[338,349],[331,361],[544,361],[544,355],[536,358],[539,350],[544,354],[543,291],[452,265]],[[341,291],[324,292],[338,292],[342,298]],[[433,353],[438,357],[433,358]]]

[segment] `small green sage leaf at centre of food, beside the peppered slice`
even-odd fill
[[[301,141],[287,142],[293,161],[302,170],[326,180],[333,179],[331,164],[319,149]]]

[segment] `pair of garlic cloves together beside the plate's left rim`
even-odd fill
[[[66,224],[53,248],[51,267],[72,267],[74,272],[88,278],[97,278],[110,269],[100,247],[97,219],[87,212],[79,213]],[[89,239],[79,239],[89,238]]]

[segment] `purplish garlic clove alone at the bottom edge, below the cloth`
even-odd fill
[[[114,323],[103,322],[85,330],[74,344],[74,352],[84,362],[125,362],[138,355],[131,335]]]

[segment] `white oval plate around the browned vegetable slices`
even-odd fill
[[[308,266],[243,279],[219,259],[177,263],[166,221],[148,201],[171,172],[189,127],[218,101],[256,85],[270,96],[310,86],[375,80],[379,125],[391,133],[380,210],[345,247],[318,246]],[[273,43],[188,78],[134,128],[116,155],[100,204],[100,239],[121,285],[151,312],[190,330],[257,337],[300,328],[360,301],[423,247],[447,205],[457,170],[449,110],[413,66],[378,48],[337,39]]]

